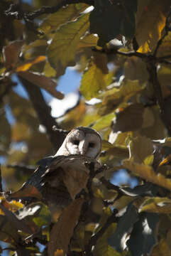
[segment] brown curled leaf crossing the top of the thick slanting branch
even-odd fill
[[[58,92],[56,90],[57,84],[51,78],[46,78],[45,75],[40,75],[39,73],[32,73],[29,71],[18,72],[18,75],[21,76],[21,78],[24,78],[29,82],[32,82],[34,85],[38,85],[44,90],[47,90],[51,95],[53,95],[57,99],[63,99],[64,95],[62,94],[62,92]]]

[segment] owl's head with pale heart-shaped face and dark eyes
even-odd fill
[[[75,154],[96,159],[100,151],[101,137],[99,133],[92,128],[77,127],[67,134],[55,156]]]

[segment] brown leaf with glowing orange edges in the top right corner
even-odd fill
[[[153,52],[170,9],[170,0],[138,1],[136,15],[136,41],[141,53]]]

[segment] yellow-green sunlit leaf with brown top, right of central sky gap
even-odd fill
[[[101,53],[94,53],[94,58],[89,64],[89,68],[82,76],[80,92],[86,100],[92,97],[98,97],[99,90],[106,87],[106,80],[108,77],[106,55]]]

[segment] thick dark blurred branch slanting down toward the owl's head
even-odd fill
[[[40,124],[43,124],[45,127],[50,142],[53,144],[53,148],[55,151],[60,148],[62,142],[65,139],[66,132],[63,132],[62,129],[54,129],[53,127],[57,127],[57,122],[50,114],[50,107],[46,104],[45,99],[42,95],[40,88],[36,85],[33,85],[31,82],[19,77],[23,86],[26,88],[30,100],[32,102],[33,108],[38,115],[38,119],[40,120]]]

